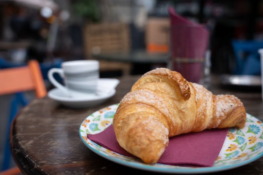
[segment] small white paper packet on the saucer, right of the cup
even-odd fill
[[[115,89],[120,80],[115,78],[100,78],[98,81],[97,93],[109,93]]]

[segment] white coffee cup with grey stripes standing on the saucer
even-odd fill
[[[62,68],[48,71],[49,81],[70,97],[95,96],[99,79],[99,62],[97,60],[76,60],[61,63]],[[54,78],[58,73],[65,86]]]

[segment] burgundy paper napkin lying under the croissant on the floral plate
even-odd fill
[[[169,144],[158,163],[195,167],[212,166],[222,148],[227,131],[228,128],[209,129],[170,137]],[[120,147],[112,125],[98,134],[87,134],[87,137],[111,151],[135,157]]]

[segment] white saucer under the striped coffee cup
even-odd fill
[[[102,79],[100,80],[102,81]],[[104,79],[104,81],[105,80],[106,79]],[[107,99],[115,95],[115,93],[116,90],[114,87],[111,90],[105,90],[105,92],[100,91],[97,95],[92,97],[68,97],[68,95],[63,91],[59,90],[58,88],[54,88],[48,92],[48,97],[71,108],[86,108],[97,106],[105,102]]]

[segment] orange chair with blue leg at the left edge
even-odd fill
[[[7,124],[8,130],[2,165],[2,170],[5,171],[0,171],[0,175],[17,174],[17,172],[19,172],[18,167],[8,169],[11,158],[8,134],[11,122],[16,114],[14,109],[18,103],[21,103],[23,106],[27,104],[27,102],[22,97],[22,92],[34,90],[36,98],[46,96],[47,92],[37,60],[30,60],[26,66],[0,69],[0,82],[0,95],[16,94],[15,100],[11,103],[11,111]]]

